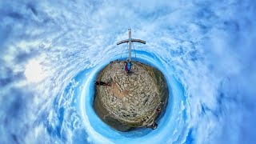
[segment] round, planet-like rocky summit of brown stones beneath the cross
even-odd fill
[[[168,87],[163,74],[140,62],[132,62],[132,74],[126,74],[123,61],[110,62],[97,75],[94,110],[109,126],[120,131],[156,125],[166,107]]]

